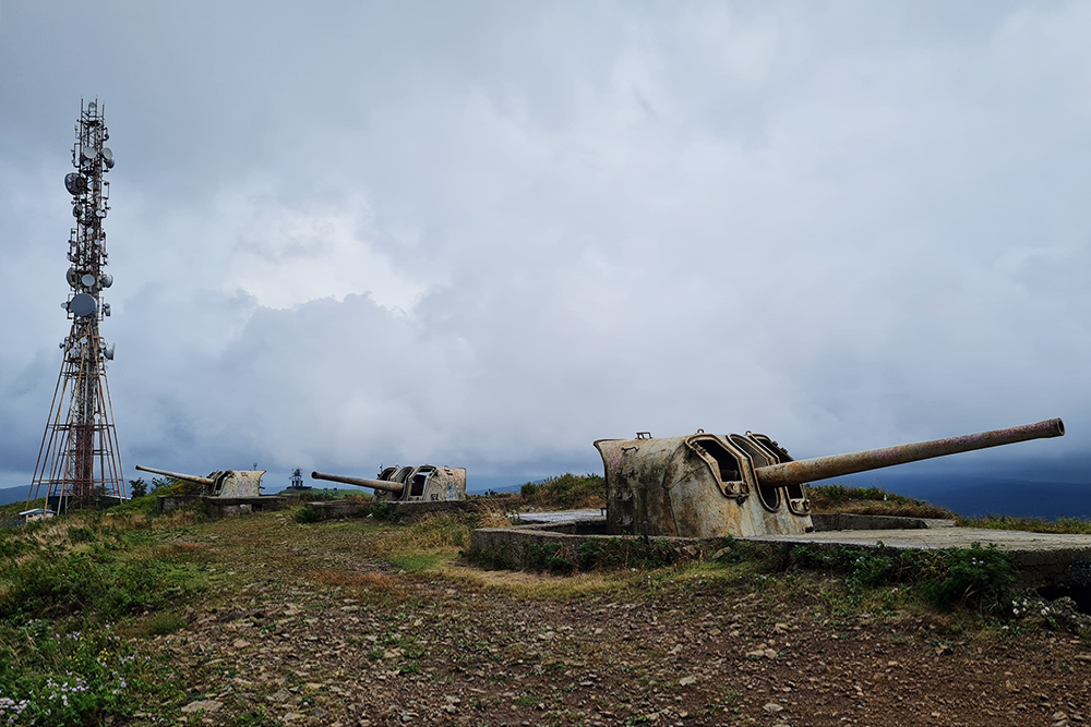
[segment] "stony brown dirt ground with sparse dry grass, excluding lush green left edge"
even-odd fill
[[[406,572],[368,555],[377,535],[311,528],[178,542],[215,597],[141,649],[191,680],[182,722],[1091,727],[1091,644],[1070,633],[837,615],[815,577]]]

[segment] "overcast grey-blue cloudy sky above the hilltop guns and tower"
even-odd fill
[[[0,486],[92,99],[129,477],[475,489],[638,431],[804,458],[1060,416],[907,467],[1091,482],[1088,0],[3,0]]]

